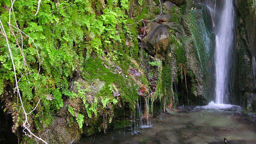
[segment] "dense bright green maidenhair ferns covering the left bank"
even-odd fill
[[[94,57],[104,55],[106,59],[120,63],[126,62],[122,60],[126,54],[134,58],[138,57],[137,44],[134,44],[137,49],[128,50],[127,53],[123,52],[123,49],[127,48],[125,41],[124,45],[119,45],[120,37],[125,40],[126,34],[133,39],[134,43],[137,42],[133,38],[134,34],[126,26],[126,13],[129,11],[130,1],[107,0],[106,2],[103,9],[99,0],[96,0],[95,3],[88,0],[44,0],[41,1],[38,14],[34,16],[37,10],[37,1],[15,1],[14,12],[10,19],[11,24],[16,25],[15,16],[19,28],[30,36],[36,45],[24,34],[20,36],[20,32],[14,27],[12,27],[14,31],[14,35],[12,35],[7,24],[11,2],[6,0],[0,2],[0,17],[13,54],[19,89],[26,111],[30,112],[41,99],[42,107],[37,109],[40,114],[44,114],[44,117],[39,114],[29,115],[29,119],[34,120],[38,131],[51,124],[53,118],[50,113],[56,113],[63,106],[63,98],[81,97],[89,117],[92,117],[92,114],[98,115],[97,108],[100,102],[104,104],[104,108],[109,103],[117,103],[107,88],[104,88],[104,91],[107,91],[107,96],[103,101],[95,98],[92,103],[85,98],[85,89],[77,88],[77,93],[70,92],[68,89],[74,72],[80,73],[83,70],[82,66],[88,64],[86,61],[92,55]],[[7,85],[4,85],[5,82],[12,88],[15,86],[12,62],[4,37],[0,39],[0,47],[0,94],[2,94],[4,86]],[[104,50],[107,50],[108,54],[105,54]],[[22,54],[24,54],[24,60]],[[102,64],[100,65],[102,66]],[[118,78],[121,79],[120,76]],[[113,83],[114,79],[115,76],[108,84]],[[118,85],[118,87],[125,86],[125,84]],[[130,93],[132,92],[136,93],[136,90]],[[131,94],[131,96],[133,95]],[[20,108],[20,104],[16,104],[15,107]],[[77,114],[76,120],[81,127],[84,116],[70,106],[68,111],[72,116]],[[21,113],[22,111],[20,111]],[[44,126],[42,126],[43,122]]]

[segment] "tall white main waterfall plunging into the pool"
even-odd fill
[[[225,96],[228,96],[228,74],[231,61],[234,29],[234,7],[232,0],[225,0],[221,13],[219,26],[216,33],[215,71],[216,103],[223,104]]]

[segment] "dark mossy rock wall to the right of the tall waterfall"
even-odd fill
[[[237,77],[236,104],[256,111],[256,13],[255,1],[236,0],[237,8]]]

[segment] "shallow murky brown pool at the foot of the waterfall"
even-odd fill
[[[189,108],[151,118],[152,127],[131,134],[128,128],[82,137],[80,144],[255,144],[256,124],[237,110]]]

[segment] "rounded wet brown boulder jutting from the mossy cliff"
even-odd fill
[[[156,22],[149,22],[148,35],[142,39],[142,44],[149,55],[165,59],[166,51],[170,44],[170,33],[166,27]]]

